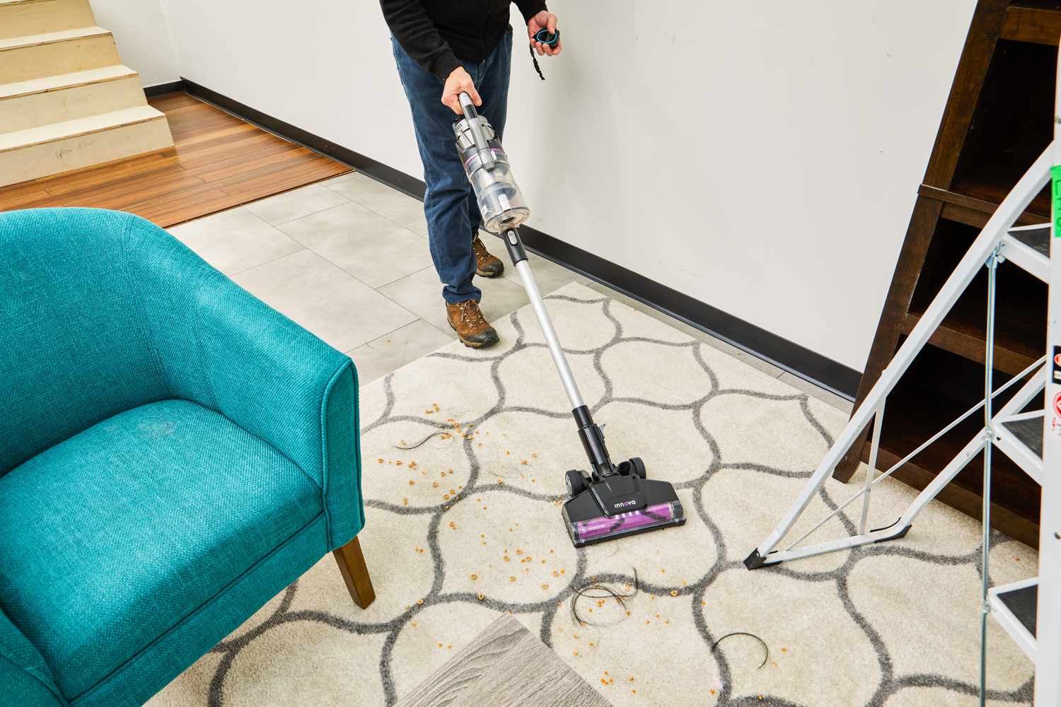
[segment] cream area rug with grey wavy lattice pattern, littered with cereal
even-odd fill
[[[327,556],[152,705],[392,705],[499,612],[614,705],[975,704],[977,523],[932,503],[904,540],[746,570],[846,416],[581,285],[547,300],[613,457],[674,482],[686,525],[572,547],[559,503],[582,450],[524,307],[500,349],[453,343],[362,391],[376,603]],[[914,496],[877,488],[871,527]],[[831,481],[802,528],[853,492]],[[1026,546],[993,552],[994,582],[1034,573]],[[768,656],[747,636],[712,650],[732,632]],[[989,646],[992,704],[1028,704],[1030,662],[994,623]]]

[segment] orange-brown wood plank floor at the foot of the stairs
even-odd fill
[[[350,172],[187,93],[149,101],[174,146],[0,189],[0,211],[97,207],[166,228]]]

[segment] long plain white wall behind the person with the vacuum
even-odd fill
[[[184,76],[421,176],[378,3],[162,1]],[[530,224],[860,370],[974,5],[554,0]]]

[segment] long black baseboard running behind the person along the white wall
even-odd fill
[[[271,132],[298,142],[341,162],[346,162],[377,181],[394,187],[411,196],[418,199],[423,198],[424,184],[416,177],[233,101],[187,78],[181,78],[181,88],[192,95],[213,103]],[[527,249],[532,252],[723,339],[794,375],[827,388],[842,397],[854,400],[862,377],[859,371],[723,312],[707,302],[701,302],[633,270],[616,265],[599,255],[564,243],[538,229],[524,226],[520,229],[520,233],[523,235]]]

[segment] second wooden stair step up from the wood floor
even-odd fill
[[[0,134],[146,105],[136,71],[102,69],[0,84]]]

